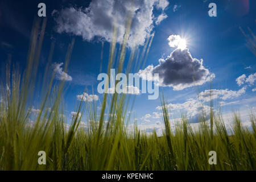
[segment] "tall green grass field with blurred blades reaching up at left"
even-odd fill
[[[127,35],[120,48],[118,72],[123,70]],[[129,115],[128,108],[134,100],[125,94],[104,95],[101,109],[97,104],[80,102],[77,112],[84,115],[88,131],[81,125],[81,117],[73,117],[67,129],[63,117],[65,94],[64,82],[55,83],[55,74],[49,76],[49,63],[42,78],[40,92],[36,92],[36,76],[43,43],[46,20],[39,28],[39,22],[32,30],[31,46],[26,71],[20,75],[16,68],[6,68],[6,80],[1,86],[0,102],[0,169],[1,170],[255,170],[256,169],[256,127],[251,114],[251,127],[241,126],[241,119],[234,114],[232,135],[228,135],[221,115],[211,111],[210,126],[205,119],[200,129],[192,130],[188,119],[183,117],[180,125],[171,130],[168,109],[162,98],[162,112],[165,129],[162,137],[140,131]],[[37,35],[40,37],[38,38]],[[114,35],[116,32],[114,30]],[[115,36],[114,36],[115,37]],[[152,38],[148,39],[144,53],[148,52]],[[67,71],[74,42],[68,48],[65,60]],[[110,48],[109,69],[115,55],[115,38]],[[143,56],[132,51],[131,65],[144,65]],[[147,55],[144,55],[146,57]],[[138,62],[137,62],[138,61]],[[13,71],[11,71],[13,70]],[[35,96],[40,94],[38,113],[31,113]],[[159,101],[160,102],[160,101]],[[48,111],[48,107],[51,110]],[[105,113],[109,113],[106,117]],[[30,125],[30,121],[34,121]],[[105,122],[107,121],[107,122]],[[133,130],[128,122],[134,123]],[[208,163],[209,151],[217,152],[217,165]],[[46,151],[47,164],[38,164],[38,152]]]

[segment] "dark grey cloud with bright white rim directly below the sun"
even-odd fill
[[[167,59],[159,59],[159,65],[149,65],[139,71],[139,76],[159,74],[159,86],[170,86],[174,90],[183,90],[211,81],[215,75],[203,65],[203,60],[191,56],[188,49],[175,49]]]

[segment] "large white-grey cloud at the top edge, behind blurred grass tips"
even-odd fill
[[[126,20],[132,13],[131,30],[128,45],[143,45],[154,28],[154,22],[160,23],[164,14],[155,17],[154,7],[160,13],[168,6],[167,0],[93,0],[88,7],[68,7],[52,12],[56,22],[56,31],[82,36],[84,40],[99,37],[108,42],[113,39],[113,27],[117,28],[117,42],[122,43],[126,31]],[[165,15],[166,16],[166,15]]]

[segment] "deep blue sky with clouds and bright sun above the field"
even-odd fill
[[[142,52],[152,38],[144,67],[131,73],[141,77],[159,73],[159,95],[163,93],[167,100],[171,122],[184,113],[192,125],[197,125],[202,106],[206,112],[210,108],[211,92],[214,110],[217,112],[221,106],[225,121],[232,118],[234,111],[240,111],[243,123],[249,125],[250,110],[256,111],[255,1],[2,0],[1,71],[10,55],[21,70],[26,67],[33,22],[42,19],[38,17],[41,2],[46,4],[47,27],[39,74],[46,68],[53,42],[51,69],[56,71],[56,82],[64,79],[67,84],[64,114],[68,120],[76,114],[85,88],[84,100],[101,106],[103,95],[97,92],[97,76],[107,71],[114,26],[117,48],[123,42],[130,10],[132,22],[125,65],[131,51],[137,48]],[[216,3],[217,16],[209,16],[210,3]],[[65,53],[73,39],[71,60],[64,72]],[[160,133],[160,97],[148,100],[148,94],[142,93],[132,97],[135,103],[131,113],[141,128]],[[36,105],[34,109],[38,109]],[[86,118],[82,121],[86,122]]]

